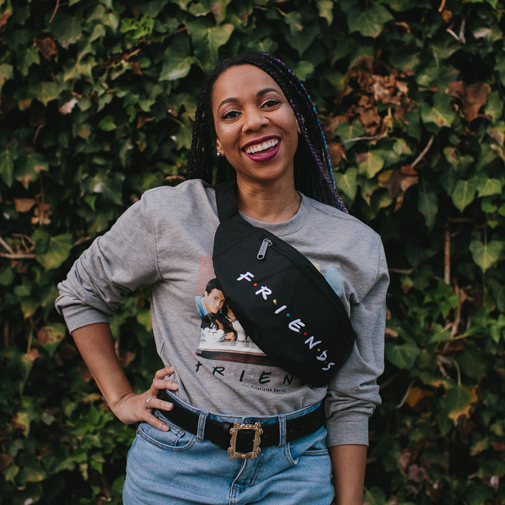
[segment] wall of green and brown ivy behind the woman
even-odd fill
[[[203,71],[268,51],[306,83],[391,274],[370,505],[505,503],[503,0],[0,0],[0,502],[121,503],[107,410],[56,284],[184,180]],[[149,292],[112,321],[139,390]]]

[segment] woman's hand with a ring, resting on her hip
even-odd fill
[[[158,393],[162,389],[177,391],[177,382],[165,379],[167,375],[175,372],[174,367],[165,367],[158,370],[147,391],[136,394],[127,393],[121,397],[111,410],[115,416],[125,424],[133,424],[145,421],[155,428],[168,431],[170,428],[160,419],[152,414],[153,409],[170,411],[173,409],[172,403],[158,398]]]

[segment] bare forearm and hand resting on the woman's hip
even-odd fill
[[[174,373],[173,367],[158,370],[147,391],[135,394],[126,378],[114,349],[110,326],[106,323],[90,324],[72,332],[77,348],[88,366],[96,384],[102,391],[116,417],[126,424],[146,421],[160,430],[168,426],[155,417],[152,409],[171,410],[173,405],[158,399],[161,389],[177,390],[177,383],[165,380]],[[146,400],[149,398],[149,407]]]

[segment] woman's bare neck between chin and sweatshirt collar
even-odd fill
[[[289,186],[254,185],[237,179],[238,209],[251,219],[264,223],[282,223],[291,219],[300,206],[300,195]]]

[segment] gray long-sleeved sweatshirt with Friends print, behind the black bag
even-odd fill
[[[219,219],[214,189],[200,180],[146,191],[74,263],[58,285],[56,307],[72,332],[108,322],[128,292],[148,284],[158,354],[175,367],[184,401],[217,414],[254,416],[326,399],[327,445],[368,444],[368,418],[380,403],[389,282],[379,235],[304,195],[297,214],[283,223],[242,217],[298,249],[340,296],[357,338],[327,387],[276,367],[226,311],[219,291],[208,288]]]

